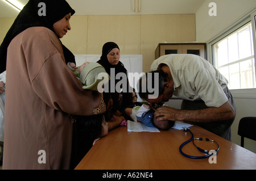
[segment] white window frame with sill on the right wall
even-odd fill
[[[254,63],[255,63],[255,72],[256,72],[256,8],[248,12],[240,20],[233,23],[231,26],[222,31],[219,35],[214,37],[212,40],[207,43],[207,59],[213,66],[216,66],[213,53],[213,45],[218,41],[224,39],[226,36],[232,34],[233,32],[239,30],[245,24],[251,22],[252,33],[253,33],[253,47],[254,47]],[[256,98],[256,89],[234,89],[230,90],[234,98]]]

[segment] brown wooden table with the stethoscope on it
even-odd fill
[[[108,136],[89,150],[77,165],[76,170],[222,170],[222,169],[256,169],[256,154],[210,133],[203,128],[190,128],[194,137],[210,138],[220,145],[216,163],[209,159],[191,159],[179,152],[179,146],[191,138],[189,132],[170,129],[170,131],[127,132],[127,127],[119,127],[109,132]],[[215,150],[213,142],[197,141],[197,146]],[[204,155],[192,142],[185,145],[184,153]]]

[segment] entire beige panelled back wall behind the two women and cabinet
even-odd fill
[[[15,18],[0,18],[2,42]],[[108,41],[122,54],[142,54],[143,71],[150,70],[158,43],[196,41],[195,14],[72,16],[72,30],[61,39],[74,54],[101,54]]]

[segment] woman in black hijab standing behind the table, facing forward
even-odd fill
[[[115,52],[113,52],[113,49],[115,49]],[[110,75],[110,71],[112,68],[114,68],[114,70],[115,70],[115,77],[118,73],[126,74],[127,92],[122,92],[121,99],[119,99],[120,92],[117,92],[117,90],[115,90],[115,92],[111,92],[112,99],[113,99],[113,111],[114,112],[116,110],[123,112],[123,108],[133,104],[133,94],[132,94],[132,92],[128,91],[129,90],[128,87],[130,85],[129,85],[129,81],[128,81],[127,70],[126,70],[125,66],[123,66],[122,62],[119,61],[119,56],[120,56],[119,53],[120,53],[119,47],[116,43],[114,43],[114,42],[105,43],[102,47],[101,58],[100,58],[100,60],[97,61],[99,64],[101,64],[105,68],[106,72],[109,75]],[[113,56],[116,56],[115,60],[113,60],[113,61],[108,59],[108,56],[112,56],[112,54],[113,54]],[[110,79],[111,78],[112,77],[110,77]],[[119,82],[119,81],[121,81],[121,80],[115,79],[115,85],[117,85],[117,82]],[[111,85],[110,82],[109,82],[109,85]],[[110,89],[111,89],[111,87],[109,86],[109,92],[110,92]]]

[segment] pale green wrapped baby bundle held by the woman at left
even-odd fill
[[[110,79],[109,74],[106,73],[104,67],[97,62],[85,62],[80,66],[79,74],[80,81],[84,84],[82,89],[89,89],[93,91],[100,91],[98,90],[98,83],[103,81],[103,86],[108,83]],[[101,75],[98,76],[99,74]]]

